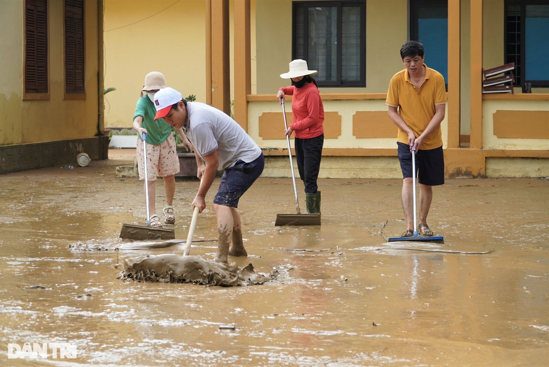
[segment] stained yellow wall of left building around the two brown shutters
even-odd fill
[[[2,1],[0,145],[91,137],[98,132],[98,5],[85,2],[86,99],[64,100],[63,2],[49,1],[49,99],[23,101],[24,1]]]

